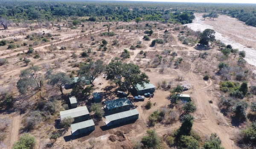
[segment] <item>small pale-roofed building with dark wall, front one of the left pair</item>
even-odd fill
[[[95,124],[93,120],[85,120],[79,123],[71,124],[71,133],[73,136],[87,132],[93,132],[93,130],[95,130]]]

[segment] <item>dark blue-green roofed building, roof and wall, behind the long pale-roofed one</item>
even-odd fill
[[[131,109],[131,101],[127,98],[105,101],[107,112],[117,113]]]

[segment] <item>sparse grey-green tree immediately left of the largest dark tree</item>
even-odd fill
[[[93,85],[93,81],[97,77],[99,77],[104,71],[105,71],[105,65],[103,64],[103,61],[96,60],[95,62],[90,61],[84,66],[81,66],[78,71],[78,74],[81,77],[85,77],[87,80],[90,81],[90,84]]]

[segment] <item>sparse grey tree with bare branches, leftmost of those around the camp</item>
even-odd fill
[[[17,89],[20,94],[26,94],[26,92],[42,88],[43,78],[38,74],[39,69],[38,66],[33,66],[20,72],[20,79],[17,82]]]

